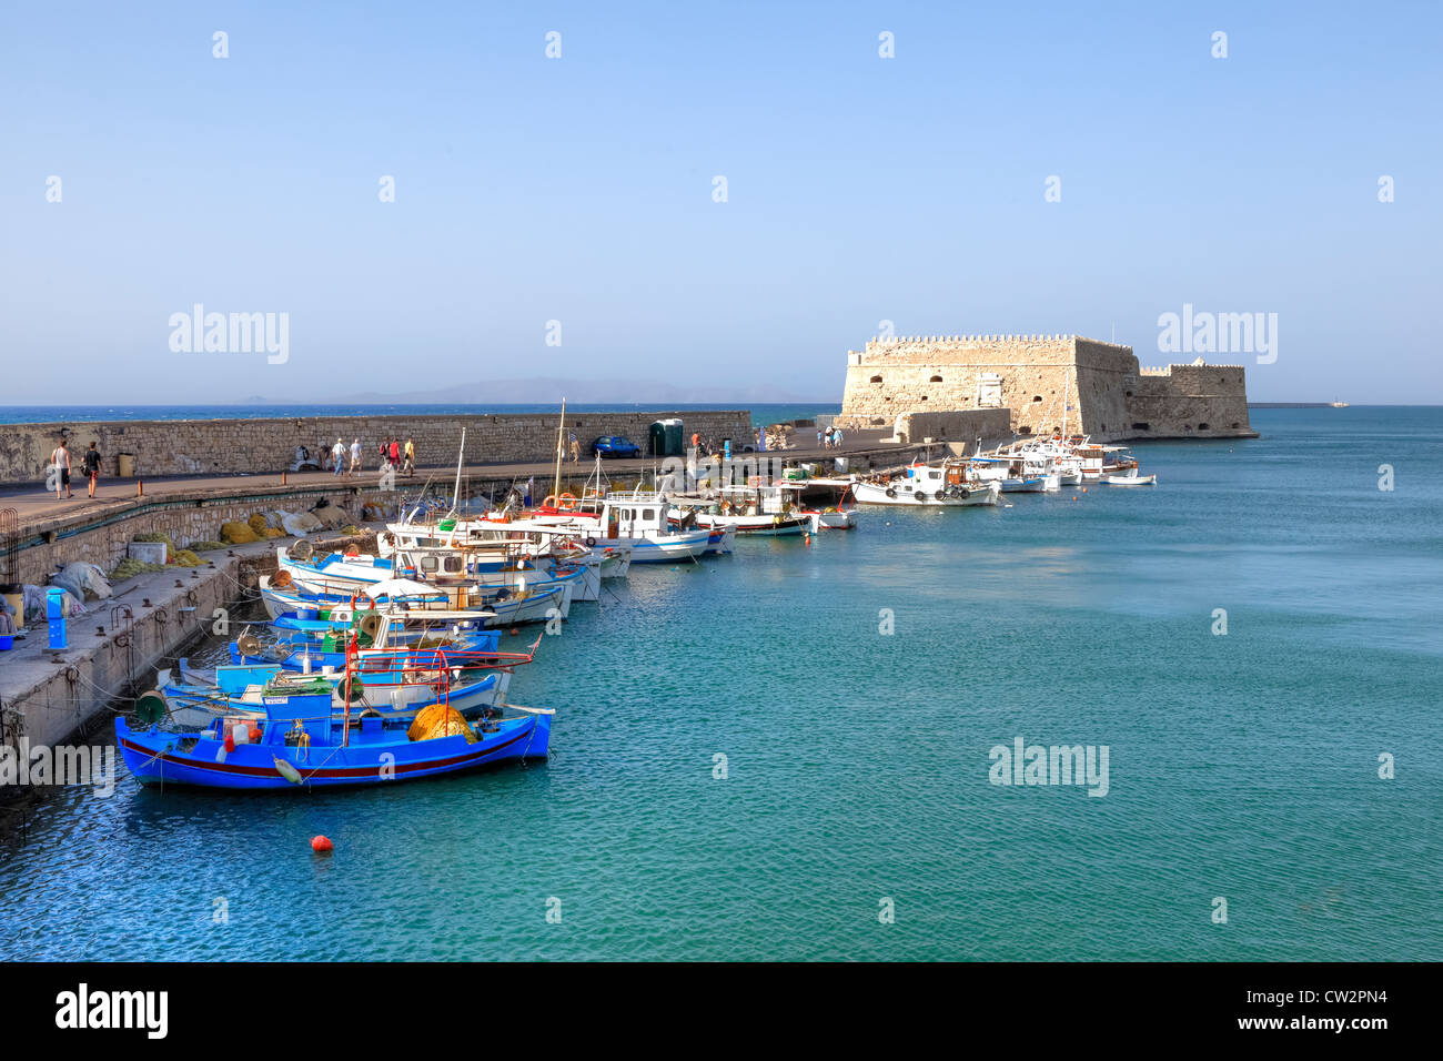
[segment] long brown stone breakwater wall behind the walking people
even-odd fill
[[[687,439],[693,432],[720,446],[732,439],[740,446],[755,439],[749,410],[690,410],[580,413],[569,416],[583,453],[600,435],[625,435],[645,449],[655,420],[678,419]],[[460,432],[466,429],[468,465],[548,460],[556,455],[556,414],[495,416],[320,416],[254,420],[115,420],[104,423],[7,424],[0,432],[0,484],[45,479],[45,465],[61,433],[69,439],[71,463],[79,468],[91,440],[104,456],[102,475],[120,473],[120,455],[131,458],[139,476],[224,475],[278,472],[290,465],[296,446],[313,458],[335,445],[361,439],[365,466],[375,469],[381,439],[416,440],[421,468],[455,466]],[[78,471],[76,471],[78,478]]]

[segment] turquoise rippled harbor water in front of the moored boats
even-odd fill
[[[1254,426],[1137,446],[1152,491],[636,569],[512,686],[548,764],[46,797],[0,956],[1443,959],[1443,410]],[[1017,736],[1107,745],[1107,795],[990,784]]]

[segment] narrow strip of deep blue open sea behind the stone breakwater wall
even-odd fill
[[[840,404],[797,403],[797,404],[750,404],[736,401],[727,406],[716,403],[704,406],[589,406],[571,403],[569,413],[616,413],[626,410],[665,410],[684,413],[688,409],[750,409],[752,426],[782,423],[785,420],[810,420],[823,413],[837,413]],[[251,420],[291,419],[297,416],[478,416],[478,414],[560,414],[560,404],[537,406],[0,406],[0,424],[6,423],[107,423],[111,420]]]

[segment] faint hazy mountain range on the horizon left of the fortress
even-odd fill
[[[693,367],[693,374],[703,370]],[[387,406],[431,406],[455,404],[498,404],[521,406],[531,403],[558,403],[566,396],[577,404],[645,404],[645,406],[749,406],[791,404],[814,401],[794,391],[755,384],[688,384],[665,380],[486,380],[485,383],[463,383],[444,390],[421,391],[361,391],[345,394],[332,401],[341,404],[387,404]]]

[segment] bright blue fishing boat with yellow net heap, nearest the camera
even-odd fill
[[[131,729],[115,719],[127,769],[143,784],[229,790],[377,785],[508,759],[544,759],[553,712],[508,706],[468,722],[449,703],[413,719],[332,716],[332,693],[266,697],[263,717],[218,717],[201,733]]]

